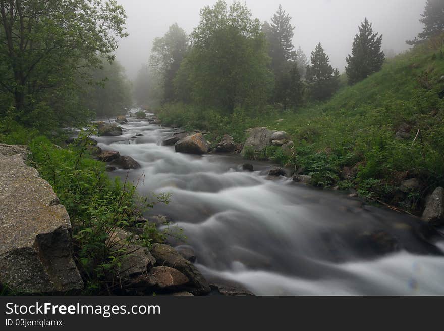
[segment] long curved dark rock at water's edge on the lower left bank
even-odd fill
[[[151,254],[155,257],[157,265],[175,268],[190,280],[189,291],[194,295],[208,294],[211,289],[208,282],[196,267],[182,257],[173,247],[163,244],[154,244]]]

